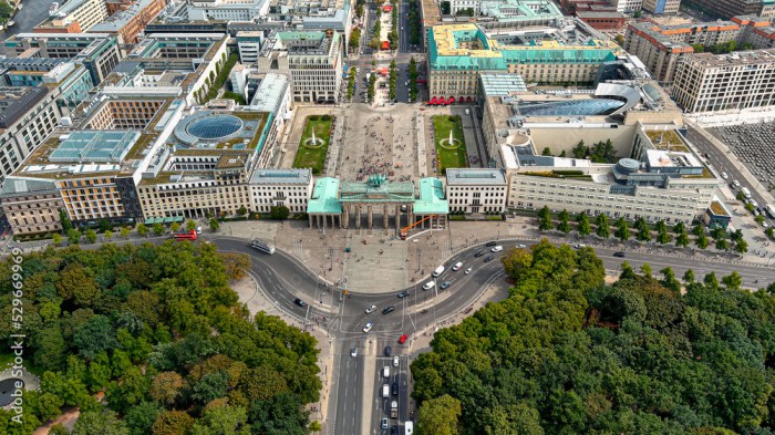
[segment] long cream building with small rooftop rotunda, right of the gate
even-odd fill
[[[586,213],[590,219],[606,214],[610,219],[691,224],[709,207],[721,182],[685,144],[665,147],[653,142],[664,134],[679,142],[678,133],[668,126],[650,127],[638,127],[634,143],[619,149],[628,157],[616,164],[540,156],[531,145],[504,145],[508,208],[546,206],[552,211]]]

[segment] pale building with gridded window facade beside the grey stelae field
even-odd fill
[[[775,104],[775,50],[686,55],[675,70],[675,102],[688,112]]]

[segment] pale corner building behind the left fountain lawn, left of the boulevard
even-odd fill
[[[261,49],[261,72],[291,77],[293,101],[335,103],[342,84],[342,37],[328,32],[277,32]]]

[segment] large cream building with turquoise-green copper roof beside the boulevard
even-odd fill
[[[534,39],[526,40],[525,32]],[[433,28],[427,55],[431,99],[473,101],[483,72],[516,73],[528,83],[592,83],[601,63],[614,60],[621,51],[612,41],[581,32],[566,40],[547,40],[545,35],[561,38],[556,29],[490,38],[475,24]]]

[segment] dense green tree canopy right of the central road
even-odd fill
[[[711,276],[682,296],[669,268],[606,284],[590,248],[547,242],[504,265],[510,297],[436,332],[412,364],[433,423],[417,434],[773,433],[766,291]]]

